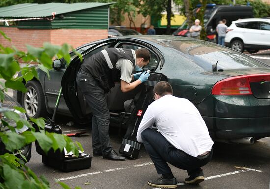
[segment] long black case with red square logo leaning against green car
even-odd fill
[[[127,132],[123,138],[119,153],[126,157],[137,159],[141,143],[137,141],[137,131],[147,107],[153,101],[153,88],[159,81],[167,81],[167,76],[161,73],[150,73],[145,87],[142,88],[135,108],[127,120]]]

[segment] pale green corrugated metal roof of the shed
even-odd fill
[[[111,3],[99,2],[85,2],[85,3],[46,3],[46,4],[32,4],[24,3],[12,6],[0,7],[0,18],[35,18],[35,17],[49,17],[53,12],[56,15],[69,13],[84,9],[90,9],[100,6],[111,5]]]

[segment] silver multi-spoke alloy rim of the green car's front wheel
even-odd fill
[[[38,108],[38,96],[33,87],[29,86],[27,89],[28,91],[24,95],[24,108],[28,116],[34,117]]]

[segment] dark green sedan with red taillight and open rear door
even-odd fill
[[[211,42],[178,36],[108,38],[77,50],[86,59],[108,47],[149,49],[151,60],[143,69],[167,76],[174,95],[189,99],[198,108],[214,140],[253,143],[254,140],[270,136],[268,65]],[[50,80],[39,70],[40,81],[27,82],[29,91],[23,95],[17,93],[17,100],[26,108],[29,116],[52,113],[62,81],[66,103],[62,98],[58,112],[71,112],[78,123],[88,121],[91,108],[75,83],[80,61],[74,54],[71,55],[73,60],[67,69],[61,60],[61,68],[51,70]],[[59,60],[54,63],[56,65]],[[117,84],[108,93],[112,125],[121,125],[119,123],[131,114],[131,103],[135,103],[131,99],[139,93],[140,87],[122,93]]]

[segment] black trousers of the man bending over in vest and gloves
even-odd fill
[[[111,150],[109,138],[109,110],[107,106],[104,90],[98,85],[97,81],[89,73],[80,69],[77,85],[88,105],[92,108],[92,147],[93,151],[102,151],[107,155]]]

